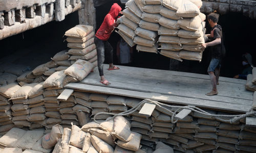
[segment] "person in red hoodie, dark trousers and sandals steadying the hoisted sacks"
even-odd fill
[[[122,14],[121,7],[114,3],[110,9],[110,12],[106,14],[102,24],[100,25],[99,30],[95,34],[94,43],[97,49],[97,60],[98,60],[98,69],[100,75],[100,83],[104,85],[109,85],[110,82],[104,78],[103,74],[103,63],[105,60],[105,52],[109,56],[109,68],[108,70],[117,70],[119,67],[113,65],[113,47],[108,42],[111,33],[114,31],[114,28],[121,22],[121,19],[118,17],[119,14]]]

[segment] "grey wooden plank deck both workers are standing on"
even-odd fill
[[[211,90],[208,75],[119,66],[120,70],[106,70],[104,75],[111,85],[99,83],[97,67],[79,83],[70,83],[66,88],[90,92],[116,94],[136,98],[149,98],[168,104],[192,105],[200,108],[231,112],[249,112],[253,92],[245,90],[245,80],[220,77],[218,95],[206,96]]]

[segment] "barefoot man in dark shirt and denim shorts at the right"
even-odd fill
[[[210,75],[212,90],[206,93],[206,95],[211,96],[218,94],[217,85],[219,85],[221,60],[225,53],[225,47],[222,38],[222,28],[221,25],[218,24],[219,14],[210,13],[207,16],[207,20],[211,27],[210,34],[206,35],[209,42],[202,44],[201,47],[206,48],[210,46],[211,49],[211,61],[207,72]]]

